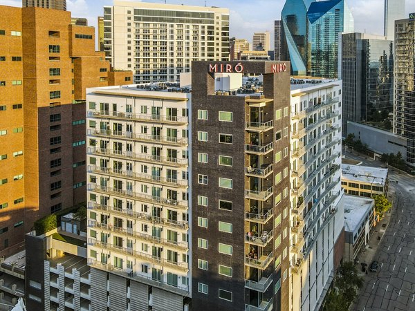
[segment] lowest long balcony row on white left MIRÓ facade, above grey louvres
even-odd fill
[[[114,265],[110,265],[109,263],[100,263],[98,261],[95,261],[95,259],[93,258],[88,259],[88,265],[100,270],[118,274],[119,276],[122,276],[124,278],[133,279],[140,283],[145,283],[150,286],[163,288],[163,290],[166,290],[167,292],[174,292],[174,294],[189,296],[189,287],[187,285],[180,284],[177,287],[175,287],[173,285],[167,284],[165,281],[162,281],[161,279],[156,280],[151,278],[151,276],[138,274],[138,272],[134,273],[133,271],[131,271],[131,269],[122,269]]]

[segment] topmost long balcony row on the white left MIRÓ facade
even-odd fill
[[[183,99],[185,100],[185,99]],[[165,123],[185,125],[189,123],[188,117],[178,117],[175,115],[153,115],[144,113],[123,113],[117,111],[88,111],[89,117],[104,117],[106,119],[116,120],[133,120],[139,122],[151,122],[151,123]]]

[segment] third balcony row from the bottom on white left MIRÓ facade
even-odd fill
[[[148,241],[150,243],[157,243],[160,245],[164,245],[166,247],[179,249],[181,251],[186,252],[189,249],[189,245],[187,242],[178,242],[178,241],[172,241],[167,240],[166,238],[160,238],[158,236],[151,236],[149,234],[144,234],[141,232],[133,231],[133,229],[126,229],[122,227],[116,227],[113,225],[108,225],[105,223],[98,223],[96,220],[89,220],[89,227],[91,228],[98,228],[102,229],[107,232],[116,232],[117,234],[124,234],[126,236],[131,236],[133,238],[138,238],[141,241]]]

